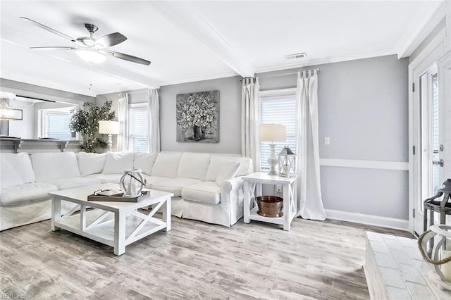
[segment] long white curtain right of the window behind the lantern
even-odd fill
[[[319,175],[318,75],[297,73],[297,216],[325,220]]]

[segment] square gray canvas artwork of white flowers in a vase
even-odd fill
[[[177,142],[219,142],[219,91],[178,94]]]

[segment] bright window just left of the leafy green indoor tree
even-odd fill
[[[41,126],[40,137],[51,137],[52,139],[69,140],[73,137],[70,132],[70,110],[75,107],[42,109],[40,112]]]

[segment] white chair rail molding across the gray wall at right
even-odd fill
[[[320,158],[319,165],[341,168],[362,168],[377,170],[408,171],[409,163],[404,161],[360,161],[357,159]]]

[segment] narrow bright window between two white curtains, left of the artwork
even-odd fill
[[[147,152],[147,104],[130,104],[128,110],[128,149]]]

